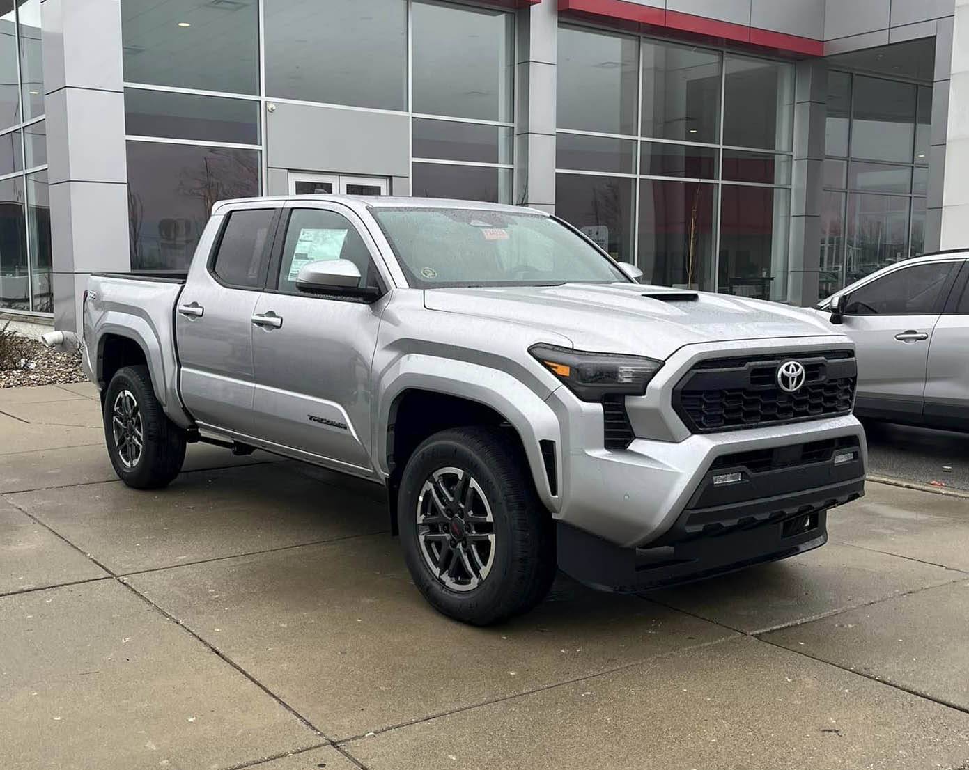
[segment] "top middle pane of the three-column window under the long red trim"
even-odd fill
[[[642,136],[720,140],[718,51],[644,41]]]

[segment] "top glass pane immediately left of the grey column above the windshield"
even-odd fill
[[[512,120],[514,15],[415,2],[412,29],[415,112]]]

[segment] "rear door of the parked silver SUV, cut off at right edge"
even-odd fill
[[[924,414],[933,425],[969,429],[969,262],[932,332]]]

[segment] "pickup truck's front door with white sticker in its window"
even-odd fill
[[[296,288],[306,262],[349,260],[361,287],[386,286],[376,248],[350,209],[294,200],[269,268],[252,328],[255,435],[309,459],[359,476],[370,461],[370,363],[386,297],[364,303],[339,293]],[[271,319],[271,323],[264,321]]]

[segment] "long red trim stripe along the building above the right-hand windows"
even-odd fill
[[[677,11],[664,11],[662,8],[643,6],[627,0],[558,0],[558,10],[635,21],[640,24],[693,32],[705,37],[749,43],[807,56],[824,55],[824,44],[812,38],[786,35],[782,32],[733,24],[715,18],[681,14]]]

